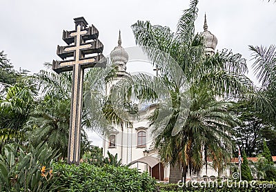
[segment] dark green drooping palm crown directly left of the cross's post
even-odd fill
[[[32,111],[27,126],[28,140],[37,146],[48,143],[67,156],[70,123],[70,99],[53,99],[47,95]]]

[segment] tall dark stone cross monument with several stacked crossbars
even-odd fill
[[[57,46],[57,55],[63,61],[53,61],[56,73],[73,71],[71,114],[68,140],[68,164],[78,164],[81,146],[81,111],[83,104],[83,73],[85,68],[105,66],[103,44],[99,41],[99,31],[88,26],[83,17],[75,18],[75,30],[63,30],[62,39],[68,46]],[[91,56],[90,56],[91,55]],[[72,57],[70,59],[69,57]],[[68,59],[69,58],[69,59]]]

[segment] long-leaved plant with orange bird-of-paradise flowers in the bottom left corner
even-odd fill
[[[7,144],[0,155],[0,191],[48,191],[58,188],[53,180],[52,160],[57,151],[47,144],[28,148]]]

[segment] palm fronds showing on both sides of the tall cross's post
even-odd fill
[[[46,64],[46,66],[50,66]],[[110,68],[95,68],[87,70],[84,77],[84,102],[81,129],[81,155],[85,153],[88,136],[85,129],[108,133],[111,122],[118,122],[118,117],[109,108],[108,98],[105,97],[103,87],[105,77],[112,77]],[[101,78],[102,77],[102,78]],[[59,149],[62,157],[67,156],[68,135],[70,125],[70,100],[72,73],[57,74],[48,70],[41,70],[32,76],[33,84],[37,85],[40,97],[38,104],[32,109],[26,123],[28,139],[38,145],[47,142],[52,148]],[[103,110],[101,110],[103,108]],[[102,112],[103,111],[103,112]]]

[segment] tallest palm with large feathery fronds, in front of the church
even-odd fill
[[[165,162],[172,165],[180,162],[184,181],[188,170],[190,173],[201,170],[207,155],[220,164],[230,160],[231,127],[238,120],[228,112],[230,103],[224,100],[218,102],[216,98],[238,99],[244,93],[254,96],[253,82],[244,75],[247,67],[242,55],[233,54],[230,50],[205,54],[204,38],[201,34],[195,34],[197,3],[196,0],[190,1],[190,8],[184,10],[175,33],[168,27],[152,26],[149,21],[137,21],[132,25],[135,41],[139,46],[144,46],[150,61],[161,68],[160,78],[164,79],[172,98],[172,115],[155,140],[155,146]],[[177,117],[184,117],[179,108],[180,101],[186,97],[177,86],[177,81],[170,78],[172,74],[166,71],[168,60],[160,54],[156,55],[156,50],[165,52],[179,64],[190,85],[188,117],[177,131],[174,129]],[[159,125],[155,122],[155,115],[151,119],[152,125]]]

